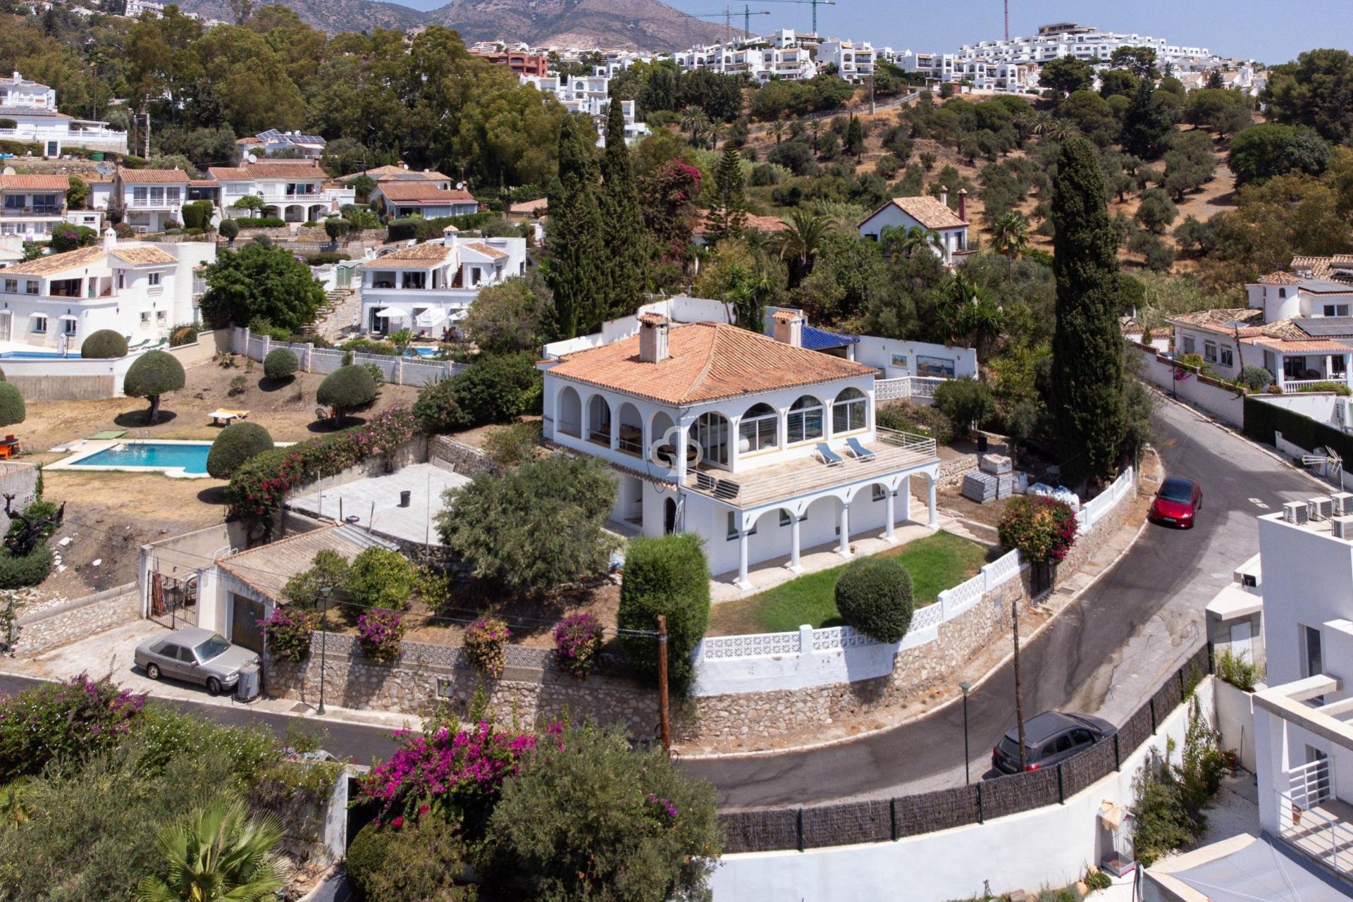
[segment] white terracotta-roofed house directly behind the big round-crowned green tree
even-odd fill
[[[319,222],[337,216],[344,204],[354,203],[357,192],[329,179],[314,160],[268,160],[239,166],[211,166],[221,185],[221,208],[227,216],[245,218],[250,211],[237,207],[245,196],[262,200],[262,215],[285,222]]]

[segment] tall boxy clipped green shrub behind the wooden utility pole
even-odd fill
[[[667,617],[667,676],[676,690],[691,680],[691,652],[709,629],[709,564],[694,533],[636,538],[625,550],[617,626],[658,629]],[[658,642],[651,636],[625,636],[625,656],[645,678],[658,678]]]

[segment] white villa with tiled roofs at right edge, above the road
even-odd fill
[[[1170,316],[1176,353],[1201,354],[1226,379],[1261,366],[1284,391],[1353,385],[1353,254],[1296,257],[1292,272],[1269,273],[1245,291],[1249,307]]]

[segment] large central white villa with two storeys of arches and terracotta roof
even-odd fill
[[[911,477],[930,488],[935,442],[874,425],[873,366],[802,348],[802,316],[774,337],[641,314],[639,334],[540,364],[544,435],[609,464],[612,519],[628,531],[690,531],[712,575],[882,533],[911,515]]]

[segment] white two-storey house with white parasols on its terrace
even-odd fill
[[[441,241],[398,247],[357,265],[361,330],[440,335],[465,318],[484,285],[526,272],[525,238],[476,238],[448,229]]]

